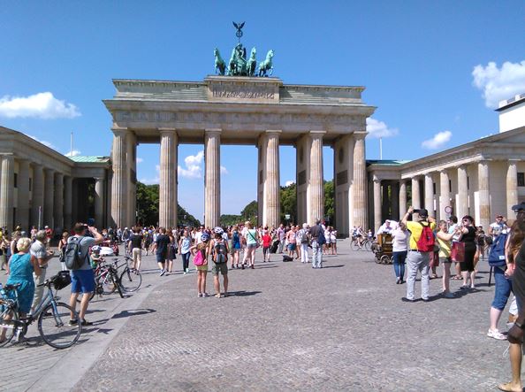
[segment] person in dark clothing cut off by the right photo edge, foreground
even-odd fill
[[[522,232],[525,232],[525,202],[513,205],[512,210],[516,212],[516,224]],[[512,236],[512,232],[511,232]],[[510,237],[509,237],[510,242]],[[507,245],[509,244],[507,242]],[[523,344],[523,329],[525,329],[525,242],[521,243],[515,252],[515,257],[508,257],[509,246],[506,247],[506,276],[513,279],[513,291],[518,305],[518,319],[514,326],[508,330],[507,340],[510,343],[508,354],[511,363],[512,380],[499,384],[498,388],[504,391],[521,391],[521,346]]]

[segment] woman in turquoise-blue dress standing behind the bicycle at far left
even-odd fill
[[[17,242],[18,253],[11,256],[9,260],[9,279],[6,284],[20,283],[19,286],[19,312],[24,317],[31,311],[34,296],[33,273],[40,275],[42,270],[35,257],[29,254],[31,240],[20,238]]]

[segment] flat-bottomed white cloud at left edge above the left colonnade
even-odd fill
[[[3,96],[0,98],[0,117],[36,117],[39,119],[72,119],[80,116],[74,104],[67,104],[52,93],[33,96]]]

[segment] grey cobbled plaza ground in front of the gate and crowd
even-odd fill
[[[429,303],[407,304],[392,265],[347,240],[321,270],[281,258],[230,271],[218,299],[197,297],[179,259],[159,277],[145,257],[141,290],[95,301],[80,344],[52,350],[32,326],[28,345],[0,350],[0,390],[487,391],[509,379],[506,341],[486,337],[486,262],[476,292],[452,281],[458,296],[445,299],[433,280]]]

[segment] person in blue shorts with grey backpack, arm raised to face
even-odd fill
[[[73,227],[73,233],[71,237],[67,239],[68,247],[70,244],[78,243],[80,250],[80,258],[82,258],[82,264],[79,268],[71,270],[71,297],[69,300],[69,305],[72,307],[73,311],[77,307],[77,298],[79,297],[80,292],[82,293],[82,300],[80,301],[80,311],[79,319],[70,319],[69,324],[71,326],[81,323],[82,326],[90,326],[93,323],[90,323],[86,320],[86,311],[87,306],[89,305],[89,298],[91,293],[95,290],[95,273],[93,273],[93,268],[89,264],[89,247],[93,245],[98,245],[104,241],[102,234],[100,234],[95,227],[87,227],[83,223],[77,223]],[[87,236],[86,234],[90,233],[92,237]],[[65,261],[67,265],[67,259]]]

